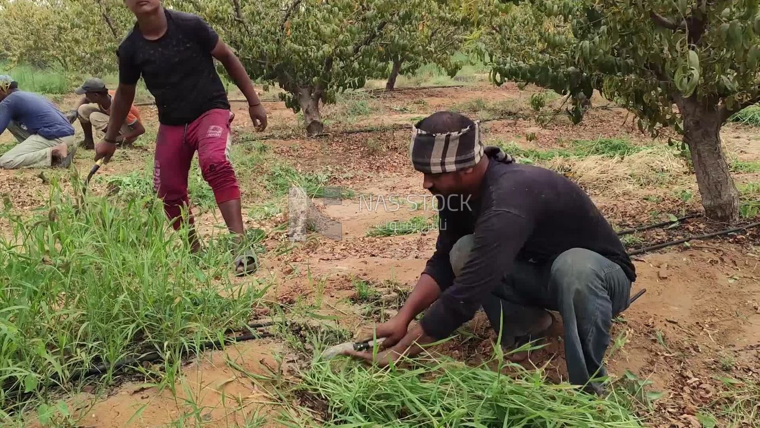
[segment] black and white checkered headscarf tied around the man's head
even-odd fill
[[[483,154],[499,162],[511,163],[512,157],[499,147],[483,147],[480,141],[480,122],[456,132],[433,134],[412,126],[409,157],[420,173],[453,173],[476,166]]]

